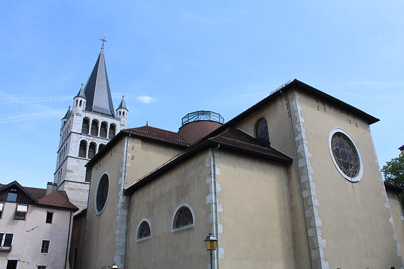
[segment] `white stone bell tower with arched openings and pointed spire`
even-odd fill
[[[88,81],[73,98],[62,119],[54,183],[71,201],[83,209],[87,206],[91,178],[84,167],[120,130],[126,128],[128,110],[124,97],[114,111],[104,44]]]

